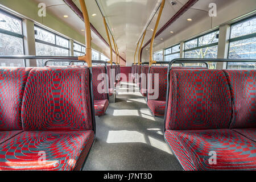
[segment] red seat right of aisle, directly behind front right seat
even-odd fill
[[[164,116],[166,109],[166,92],[167,92],[167,71],[168,67],[154,66],[150,68],[150,78],[148,78],[148,101],[147,105],[150,107],[154,116]],[[159,90],[155,88],[155,76],[159,76]],[[155,89],[153,91],[153,89]],[[158,98],[152,100],[153,95]]]

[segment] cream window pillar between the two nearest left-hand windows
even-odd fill
[[[34,56],[36,55],[34,22],[24,19],[22,25],[24,34],[24,53],[25,55]],[[26,60],[26,67],[37,67],[36,60]]]

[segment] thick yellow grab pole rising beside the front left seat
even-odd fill
[[[84,23],[85,23],[85,35],[86,35],[86,53],[84,56],[79,56],[80,61],[86,61],[88,64],[88,67],[92,67],[92,36],[90,32],[90,20],[88,11],[85,5],[84,0],[79,0],[81,9],[82,9],[82,15],[84,16]]]

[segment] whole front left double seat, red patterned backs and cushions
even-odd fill
[[[0,170],[81,170],[95,140],[88,68],[0,69]]]

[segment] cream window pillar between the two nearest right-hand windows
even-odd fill
[[[220,27],[218,36],[218,59],[228,59],[229,55],[230,25],[226,24]],[[226,69],[225,63],[217,63],[217,69]]]

